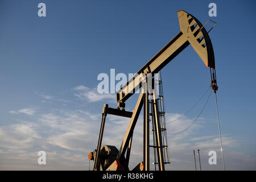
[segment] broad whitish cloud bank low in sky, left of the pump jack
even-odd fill
[[[36,124],[0,126],[0,169],[88,169],[86,155],[96,147],[99,115],[61,110],[36,116]],[[46,166],[37,164],[40,150],[46,151]]]

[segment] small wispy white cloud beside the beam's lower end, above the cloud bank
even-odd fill
[[[76,91],[74,96],[81,100],[88,100],[89,102],[97,102],[101,100],[114,100],[114,94],[100,94],[97,92],[96,88],[88,88],[84,85],[79,85],[73,88]]]

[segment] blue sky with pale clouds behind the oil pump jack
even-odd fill
[[[38,16],[40,2],[46,3],[46,17]],[[208,15],[211,2],[216,17]],[[226,169],[255,170],[255,2],[183,0],[1,0],[0,169],[88,169],[86,155],[96,148],[102,106],[116,106],[114,96],[97,94],[98,74],[109,75],[111,68],[116,74],[136,73],[180,31],[181,9],[203,24],[217,22],[209,35]],[[191,46],[163,68],[162,76],[167,121],[187,111],[210,84],[209,68]],[[168,131],[187,127],[206,99]],[[119,147],[129,121],[108,119],[104,142]],[[142,160],[141,123],[131,165]],[[120,133],[111,133],[113,127]],[[203,169],[222,169],[213,94],[199,121],[168,141],[173,161],[168,169],[193,170],[197,148]],[[46,166],[37,164],[40,150],[47,152]],[[210,150],[217,151],[216,166],[208,164]]]

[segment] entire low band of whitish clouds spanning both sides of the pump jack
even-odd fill
[[[81,90],[84,90],[80,86]],[[166,119],[172,121],[179,114],[166,114]],[[98,133],[101,124],[101,114],[91,114],[84,110],[55,110],[49,113],[37,115],[36,125],[32,123],[20,123],[0,127],[1,167],[8,169],[87,169],[86,155],[97,147]],[[103,144],[114,145],[119,149],[125,135],[129,118],[108,115],[106,118]],[[218,135],[202,135],[193,137],[198,130],[204,127],[204,119],[195,123],[189,130],[179,135],[168,135],[168,147],[171,164],[167,170],[193,170],[192,151],[200,148],[201,163],[203,169],[221,170],[221,154]],[[176,132],[184,129],[193,118],[184,117],[177,122],[167,125],[168,132]],[[172,129],[172,130],[170,130]],[[130,168],[132,169],[143,160],[143,118],[139,117],[134,130],[133,144],[131,147]],[[152,135],[151,135],[152,136]],[[226,157],[227,169],[255,169],[255,156],[245,153],[233,152],[241,143],[240,139],[224,135],[223,147]],[[36,152],[47,152],[47,167],[40,168],[32,159],[37,159]],[[208,164],[208,152],[217,152],[217,166]],[[151,150],[152,154],[152,150]],[[13,157],[11,157],[13,156]],[[241,158],[243,156],[243,158]],[[15,159],[15,160],[14,160]],[[151,155],[150,162],[153,162]],[[236,162],[239,163],[235,164]],[[92,162],[93,163],[93,162]],[[23,164],[23,167],[20,167]],[[234,165],[233,165],[234,164]],[[154,169],[154,165],[150,164]]]

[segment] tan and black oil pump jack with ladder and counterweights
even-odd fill
[[[97,150],[89,152],[88,159],[94,160],[94,171],[129,171],[129,159],[131,151],[131,142],[133,140],[133,131],[137,123],[139,114],[143,106],[143,162],[139,163],[133,170],[150,170],[150,122],[153,122],[155,146],[157,154],[158,169],[165,170],[164,164],[169,163],[164,160],[164,144],[162,137],[163,127],[159,121],[159,105],[155,97],[155,91],[148,91],[148,84],[154,83],[155,73],[158,73],[175,56],[183,51],[189,44],[195,49],[204,64],[210,68],[211,86],[216,93],[216,71],[214,63],[214,52],[205,25],[201,24],[191,14],[179,10],[177,11],[180,24],[180,32],[164,46],[147,64],[145,64],[130,80],[123,85],[117,92],[117,109],[104,105],[102,110],[102,121],[100,135],[98,138]],[[209,22],[209,21],[208,21]],[[207,22],[207,23],[208,23]],[[206,24],[206,23],[205,23]],[[210,29],[211,30],[211,29]],[[141,89],[142,88],[142,89]],[[143,89],[144,88],[144,89]],[[137,104],[133,111],[125,110],[125,101],[127,101],[135,92],[141,89]],[[149,99],[150,98],[150,99]],[[149,108],[151,106],[151,113]],[[120,149],[115,146],[101,146],[104,133],[104,126],[107,114],[118,115],[130,118]],[[150,115],[152,119],[150,120]],[[126,154],[126,155],[125,155]]]

